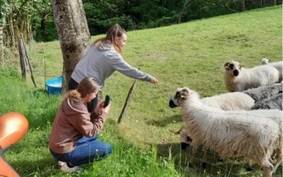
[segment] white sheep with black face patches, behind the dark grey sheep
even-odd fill
[[[224,79],[228,91],[245,91],[258,86],[275,84],[279,72],[275,67],[262,65],[253,68],[242,68],[239,62],[231,61],[224,64]]]

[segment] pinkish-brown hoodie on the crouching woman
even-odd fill
[[[88,113],[86,105],[76,98],[66,98],[57,110],[49,147],[52,152],[63,154],[75,149],[78,140],[93,137],[102,129],[107,113]]]

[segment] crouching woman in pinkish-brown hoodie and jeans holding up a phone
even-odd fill
[[[96,98],[99,88],[95,79],[86,77],[76,90],[67,93],[57,110],[49,147],[62,171],[74,172],[80,169],[80,165],[103,159],[112,153],[110,144],[97,141],[110,104],[103,108],[104,102],[100,102],[92,113],[88,113],[86,107],[86,103]]]

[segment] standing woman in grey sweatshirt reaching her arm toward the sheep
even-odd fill
[[[141,81],[149,81],[157,84],[158,80],[153,76],[139,71],[123,59],[122,47],[126,44],[127,33],[120,25],[115,24],[108,30],[105,38],[96,40],[81,60],[76,64],[71,79],[69,90],[76,89],[79,82],[86,76],[92,76],[100,86],[104,86],[107,79],[113,72],[118,71],[126,76]],[[96,108],[98,97],[88,104],[88,112]]]

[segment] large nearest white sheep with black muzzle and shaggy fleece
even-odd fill
[[[264,169],[263,176],[272,176],[282,163],[282,110],[225,111],[204,105],[197,92],[178,89],[174,103],[181,107],[185,130],[193,147],[224,157],[244,157]],[[271,154],[277,153],[275,166]]]

